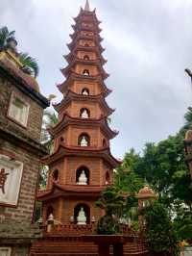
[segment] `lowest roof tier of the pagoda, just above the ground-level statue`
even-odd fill
[[[59,183],[53,182],[51,190],[39,191],[37,192],[38,201],[46,201],[49,199],[65,196],[97,196],[104,191],[106,186],[94,186],[94,185],[61,185]]]

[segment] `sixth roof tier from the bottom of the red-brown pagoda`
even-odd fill
[[[68,64],[66,67],[60,69],[62,74],[64,75],[64,77],[67,78],[71,72],[75,72],[75,70],[74,70],[75,64],[96,65],[104,80],[107,79],[109,76],[109,74],[105,71],[102,64],[100,63],[99,59],[98,60],[84,60],[84,59],[76,58],[70,64]]]

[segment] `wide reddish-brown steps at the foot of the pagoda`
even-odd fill
[[[123,239],[122,239],[123,238]],[[101,244],[99,247],[97,244]],[[104,246],[107,245],[107,246]],[[108,246],[108,244],[114,244]],[[123,246],[122,246],[123,245]],[[103,254],[102,254],[103,253]],[[121,254],[119,254],[121,253]],[[30,256],[149,256],[144,243],[135,237],[60,235],[44,233],[31,248]]]

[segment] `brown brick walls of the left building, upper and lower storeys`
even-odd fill
[[[23,128],[7,117],[12,91],[19,95],[22,100],[24,99],[30,104],[27,128]],[[4,126],[6,128],[7,126],[12,125],[15,136],[18,132],[19,136],[23,135],[26,138],[31,138],[39,142],[42,114],[43,109],[33,99],[22,93],[20,90],[17,90],[10,81],[0,77],[1,128],[4,128]],[[37,155],[37,150],[32,150],[30,146],[26,146],[25,149],[25,146],[22,141],[15,139],[11,142],[7,140],[7,138],[4,138],[3,134],[0,134],[0,152],[4,155],[13,154],[16,161],[23,163],[23,175],[17,207],[7,207],[6,205],[0,206],[0,215],[15,220],[31,221],[33,218],[36,197],[36,181],[40,165],[40,157]]]

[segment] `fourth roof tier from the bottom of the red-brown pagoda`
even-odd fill
[[[115,111],[114,109],[111,109],[108,107],[108,103],[105,100],[104,93],[100,93],[97,95],[84,95],[84,94],[78,94],[72,90],[67,90],[62,101],[59,104],[53,104],[53,107],[58,113],[60,113],[61,109],[68,106],[68,104],[72,100],[77,100],[77,101],[88,100],[89,102],[99,102],[101,108],[103,108],[108,113],[108,115],[111,115]]]

